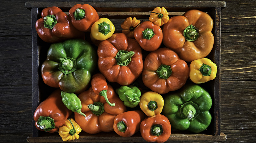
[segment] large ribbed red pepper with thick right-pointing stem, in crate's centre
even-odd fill
[[[130,85],[143,70],[141,48],[134,39],[115,33],[98,46],[98,69],[109,82]]]

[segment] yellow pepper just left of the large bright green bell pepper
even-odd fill
[[[139,107],[149,117],[160,114],[163,105],[163,98],[157,92],[148,91],[140,97]]]

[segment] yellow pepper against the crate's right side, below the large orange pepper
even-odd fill
[[[189,78],[196,84],[205,83],[216,77],[217,66],[208,58],[194,60],[189,66]]]

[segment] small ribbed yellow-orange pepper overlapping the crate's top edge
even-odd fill
[[[149,16],[149,21],[153,22],[155,25],[162,26],[163,24],[166,24],[169,20],[169,13],[164,7],[157,7],[149,12],[151,12]]]

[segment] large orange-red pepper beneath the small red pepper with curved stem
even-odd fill
[[[114,131],[114,119],[118,114],[126,112],[126,106],[111,85],[108,85],[107,96],[115,106],[110,106],[103,96],[95,94],[92,87],[78,95],[82,103],[81,111],[86,117],[75,113],[75,121],[84,132],[96,134]]]

